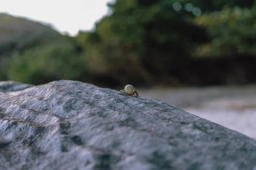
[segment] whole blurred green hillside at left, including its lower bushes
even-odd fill
[[[0,80],[42,84],[79,79],[85,71],[76,38],[7,14],[0,23]]]

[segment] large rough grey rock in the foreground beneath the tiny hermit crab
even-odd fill
[[[21,86],[0,83],[1,170],[256,170],[256,140],[166,102],[68,80]]]

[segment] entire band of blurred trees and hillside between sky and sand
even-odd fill
[[[220,73],[203,74],[207,68],[218,70],[216,62],[256,54],[253,4],[253,0],[116,0],[109,4],[113,14],[77,37],[0,14],[0,80],[41,84],[73,79],[108,87],[225,83],[228,77]]]

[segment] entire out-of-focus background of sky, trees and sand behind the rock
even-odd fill
[[[0,1],[0,81],[131,84],[256,138],[256,1]]]

